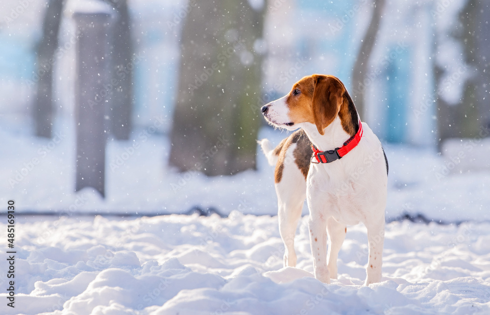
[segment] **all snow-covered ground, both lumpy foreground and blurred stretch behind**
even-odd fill
[[[339,279],[332,284],[312,278],[307,216],[297,231],[297,268],[282,269],[273,170],[262,154],[257,171],[233,177],[179,174],[167,166],[168,138],[140,128],[130,141],[109,141],[103,200],[91,189],[73,192],[73,134],[55,130],[57,137],[40,140],[0,129],[0,203],[15,200],[18,213],[16,308],[6,306],[3,254],[0,314],[490,312],[487,140],[448,142],[441,156],[385,145],[390,175],[383,279],[363,287],[363,226],[348,227]],[[284,136],[270,128],[260,134],[274,143]],[[24,175],[12,184],[17,172]],[[178,215],[194,206],[228,217]],[[28,211],[63,216],[22,215]],[[94,212],[177,214],[83,215]],[[435,222],[391,222],[407,213]],[[0,231],[6,224],[0,217]]]

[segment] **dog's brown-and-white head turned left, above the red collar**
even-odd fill
[[[337,116],[348,134],[355,135],[358,128],[354,103],[343,83],[332,75],[313,74],[302,78],[288,94],[264,105],[261,112],[270,124],[288,130],[301,127],[301,123],[311,123],[324,135],[324,129]]]

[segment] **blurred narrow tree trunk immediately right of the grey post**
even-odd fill
[[[112,78],[109,112],[111,133],[116,139],[127,140],[131,132],[133,112],[133,45],[127,0],[105,0],[117,11],[117,22],[113,27]]]

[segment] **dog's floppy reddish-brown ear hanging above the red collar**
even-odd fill
[[[317,75],[313,91],[312,110],[315,125],[320,135],[334,121],[343,102],[343,86],[331,76]]]

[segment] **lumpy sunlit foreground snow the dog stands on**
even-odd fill
[[[36,216],[16,226],[16,308],[1,293],[1,314],[490,313],[489,223],[387,224],[382,282],[370,287],[363,226],[348,228],[330,285],[312,277],[307,217],[287,269],[277,217]]]

